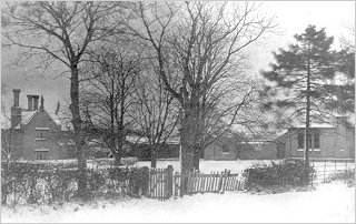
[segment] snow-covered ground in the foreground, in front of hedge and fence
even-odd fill
[[[253,195],[244,192],[197,194],[160,202],[150,198],[98,201],[88,205],[2,208],[1,222],[80,223],[247,223],[355,222],[355,189],[343,183],[316,191]]]

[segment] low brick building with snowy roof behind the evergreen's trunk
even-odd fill
[[[309,157],[354,159],[355,126],[347,116],[336,116],[330,123],[312,123]],[[296,125],[275,140],[277,149],[286,157],[303,157],[305,128]]]

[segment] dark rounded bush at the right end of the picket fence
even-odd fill
[[[312,166],[305,167],[304,161],[271,162],[270,165],[257,165],[248,169],[248,189],[264,189],[270,186],[301,186],[306,172],[310,179],[315,177],[315,170]]]

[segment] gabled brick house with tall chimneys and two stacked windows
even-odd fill
[[[44,110],[43,96],[39,105],[39,95],[27,95],[28,108],[20,108],[20,92],[13,90],[11,124],[9,129],[2,130],[2,146],[8,147],[10,160],[76,157],[75,144],[70,141],[70,125],[65,125],[58,114]]]

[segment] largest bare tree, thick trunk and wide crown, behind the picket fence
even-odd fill
[[[204,133],[199,131],[204,122],[199,114],[206,106],[205,98],[214,91],[219,80],[231,74],[240,64],[243,50],[273,28],[271,20],[259,17],[254,4],[231,4],[185,2],[177,8],[174,3],[139,3],[132,11],[140,23],[135,20],[136,24],[127,24],[134,35],[146,40],[156,52],[165,88],[182,109],[182,172],[194,170],[194,154],[199,135]],[[169,82],[168,54],[177,59],[175,67],[180,81],[179,90]]]

